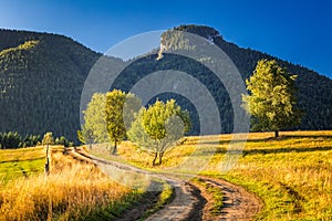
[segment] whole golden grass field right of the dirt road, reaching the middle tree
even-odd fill
[[[258,194],[263,211],[257,220],[332,220],[332,131],[288,131],[249,134],[236,166],[220,172],[231,135],[188,137],[166,152],[162,167],[152,168],[152,156],[131,143],[118,148],[118,158],[152,170],[179,165],[203,143],[200,154],[190,156],[199,164],[205,151],[216,150],[203,175],[241,185]],[[198,151],[199,152],[199,151]],[[196,172],[196,171],[186,171]]]

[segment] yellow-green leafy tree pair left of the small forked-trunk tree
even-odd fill
[[[141,108],[141,101],[132,93],[113,90],[106,94],[95,93],[83,112],[84,125],[77,131],[83,144],[113,141],[113,154],[126,137],[126,131]]]

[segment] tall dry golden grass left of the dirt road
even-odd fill
[[[49,176],[33,175],[2,185],[0,220],[114,220],[144,193],[62,151],[55,150],[51,161]]]

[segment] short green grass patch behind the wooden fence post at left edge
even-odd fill
[[[42,147],[0,150],[0,186],[15,178],[41,173],[44,164]]]

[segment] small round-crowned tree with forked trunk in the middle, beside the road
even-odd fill
[[[148,108],[143,107],[132,128],[129,139],[154,155],[153,166],[162,165],[165,151],[172,148],[190,129],[189,113],[183,110],[175,99],[157,101]]]

